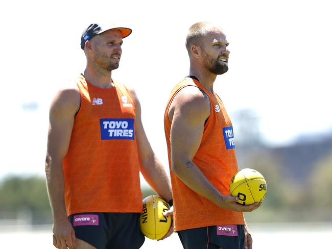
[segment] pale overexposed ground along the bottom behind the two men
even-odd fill
[[[327,248],[332,237],[331,223],[255,223],[248,224],[254,249]],[[0,248],[54,249],[51,227],[0,227]],[[146,239],[142,249],[181,249],[176,234],[164,241]]]

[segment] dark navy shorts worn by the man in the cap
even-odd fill
[[[75,236],[97,249],[136,249],[145,240],[140,213],[78,213],[69,216]]]

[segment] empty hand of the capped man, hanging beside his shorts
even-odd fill
[[[55,220],[53,223],[53,245],[58,249],[74,249],[75,231],[68,219]]]

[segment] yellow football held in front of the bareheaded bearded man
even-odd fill
[[[251,168],[237,172],[230,181],[229,191],[232,196],[238,196],[238,203],[250,205],[262,202],[266,195],[267,185],[261,173]]]

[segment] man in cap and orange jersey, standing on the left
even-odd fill
[[[172,202],[137,95],[111,77],[131,32],[112,23],[90,24],[81,37],[84,73],[51,104],[45,171],[57,248],[139,248],[145,239],[139,230],[139,172]]]

